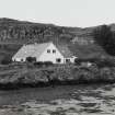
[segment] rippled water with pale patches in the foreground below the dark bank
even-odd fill
[[[0,115],[115,115],[115,84],[0,91]]]

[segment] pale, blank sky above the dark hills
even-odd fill
[[[0,18],[60,26],[115,23],[115,0],[0,0]]]

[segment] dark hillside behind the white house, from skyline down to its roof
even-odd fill
[[[115,31],[115,24],[111,24]],[[92,57],[106,55],[92,37],[94,27],[66,27],[54,24],[32,23],[12,19],[0,19],[0,60],[12,57],[23,44],[53,41],[68,44],[74,55]]]

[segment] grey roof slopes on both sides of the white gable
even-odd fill
[[[50,43],[24,45],[13,58],[39,57]],[[65,58],[73,56],[66,45],[55,45]]]

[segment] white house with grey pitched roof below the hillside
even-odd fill
[[[76,58],[67,46],[43,43],[23,45],[12,60],[26,61],[27,57],[35,57],[36,61],[51,61],[53,64],[74,62]]]

